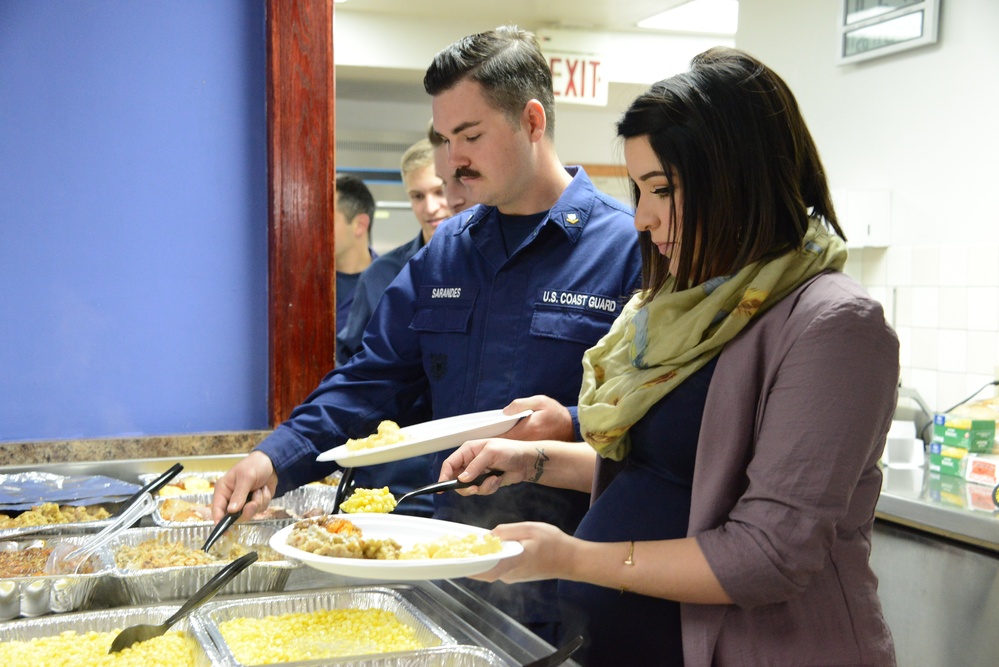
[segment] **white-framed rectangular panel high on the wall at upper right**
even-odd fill
[[[940,0],[840,0],[840,65],[937,41]]]

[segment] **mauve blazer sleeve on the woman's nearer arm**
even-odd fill
[[[726,521],[697,535],[745,607],[800,594],[828,566],[838,536],[867,529],[896,402],[898,340],[871,300],[835,303],[784,352],[761,397],[747,488]]]

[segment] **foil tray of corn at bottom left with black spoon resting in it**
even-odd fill
[[[115,632],[136,623],[162,623],[177,609],[178,605],[122,607],[119,609],[78,612],[75,614],[63,614],[61,616],[49,616],[47,618],[10,621],[9,623],[0,623],[0,643],[51,637],[70,630],[76,631],[77,634],[86,632]],[[210,641],[207,637],[198,636],[187,619],[178,621],[170,629],[187,632],[194,636],[198,644],[198,647],[194,651],[195,667],[214,667],[211,658],[204,648],[206,645],[210,645]],[[110,648],[110,646],[109,641],[108,647]]]

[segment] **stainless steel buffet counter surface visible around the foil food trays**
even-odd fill
[[[126,482],[140,481],[140,475],[166,471],[173,464],[184,465],[182,474],[191,472],[217,472],[228,470],[243,454],[221,454],[205,456],[183,456],[171,458],[124,459],[105,461],[69,461],[50,464],[29,464],[0,466],[2,473],[48,472],[58,475],[103,475]],[[147,522],[149,517],[143,519]],[[311,567],[302,566],[292,570],[282,593],[300,591],[329,592],[331,589],[384,587],[404,596],[407,600],[419,602],[433,622],[460,644],[481,647],[498,656],[506,665],[522,665],[553,652],[553,647],[536,635],[497,610],[482,598],[460,585],[458,581],[436,580],[418,582],[380,582],[367,579],[354,579],[328,574]],[[98,585],[89,607],[91,609],[124,609],[129,600],[110,586]],[[267,596],[267,593],[245,595],[218,595],[215,600],[243,600]],[[274,595],[270,593],[269,595]],[[178,601],[179,603],[179,601]],[[73,613],[87,613],[85,611]],[[69,616],[71,614],[63,614]],[[57,615],[58,616],[58,615]],[[52,615],[40,617],[53,618]],[[23,623],[25,619],[9,623]],[[0,622],[0,630],[4,626]],[[369,664],[365,662],[364,664]],[[372,663],[373,664],[373,663]],[[395,664],[395,663],[392,663]],[[407,663],[408,664],[408,663]],[[415,663],[414,663],[415,664]],[[422,663],[421,663],[422,664]],[[456,664],[466,664],[464,662]],[[470,663],[480,664],[480,663]],[[492,663],[490,663],[492,664]],[[565,664],[576,664],[569,661]]]

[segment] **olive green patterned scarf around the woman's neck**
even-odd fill
[[[813,219],[800,249],[750,264],[731,276],[672,292],[649,303],[641,294],[583,357],[579,424],[604,458],[631,449],[628,430],[646,411],[721,352],[752,321],[809,278],[839,271],[846,244]]]

